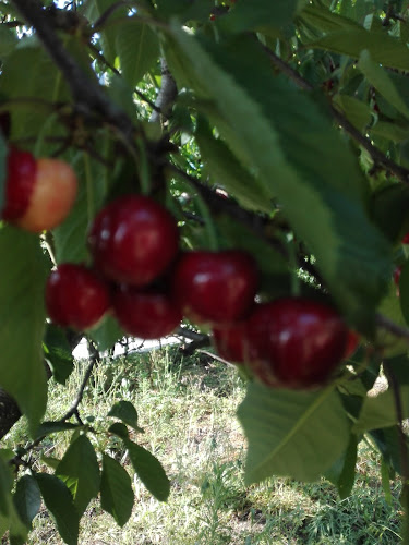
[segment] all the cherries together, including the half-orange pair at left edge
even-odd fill
[[[76,194],[71,167],[16,149],[7,167],[2,219],[40,232],[65,218]],[[128,335],[157,339],[184,316],[212,327],[222,359],[287,388],[324,384],[357,347],[357,335],[327,304],[304,298],[256,302],[251,254],[181,251],[175,218],[148,196],[110,202],[95,217],[87,243],[89,267],[63,263],[47,280],[48,316],[62,327],[87,330],[111,313]]]

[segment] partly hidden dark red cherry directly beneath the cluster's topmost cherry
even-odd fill
[[[115,315],[122,329],[141,339],[160,339],[180,324],[182,314],[164,292],[121,286],[112,294]]]

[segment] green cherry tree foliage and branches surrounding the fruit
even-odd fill
[[[127,459],[149,493],[160,501],[169,496],[164,467],[133,440],[143,432],[135,409],[143,404],[117,397],[132,383],[127,374],[111,380],[110,368],[98,384],[92,374],[95,391],[115,393],[98,417],[83,414],[89,390],[79,384],[77,407],[60,411],[75,422],[47,413],[41,423],[47,365],[50,382],[64,388],[74,367],[65,331],[44,308],[47,255],[92,265],[87,233],[96,213],[141,191],[175,213],[183,249],[210,241],[251,252],[257,301],[325,298],[363,336],[342,376],[322,390],[248,383],[238,409],[249,443],[245,482],[324,474],[347,501],[368,436],[393,501],[392,471],[409,477],[401,460],[408,441],[398,432],[409,416],[409,265],[400,243],[409,231],[408,8],[381,0],[84,0],[76,8],[41,11],[50,32],[58,28],[60,50],[47,34],[40,41],[36,28],[14,27],[20,14],[0,2],[0,113],[11,114],[10,142],[0,131],[0,209],[10,144],[61,157],[79,178],[74,207],[47,237],[0,223],[0,387],[35,438],[1,452],[0,533],[10,530],[12,544],[24,543],[40,497],[65,543],[77,543],[80,519],[98,495],[123,526],[134,501]],[[164,60],[177,89],[166,85]],[[167,112],[157,123],[149,123],[153,102]],[[225,202],[216,187],[227,192]],[[100,352],[124,338],[112,315],[88,337]],[[382,363],[394,388],[372,397]],[[172,371],[157,377],[151,364],[142,383],[155,390]],[[184,386],[178,375],[178,388]],[[49,475],[32,452],[53,434],[70,445],[40,455],[55,470]],[[203,491],[222,488],[224,480],[207,479]],[[222,505],[215,500],[209,520]],[[212,524],[203,536],[219,538]]]

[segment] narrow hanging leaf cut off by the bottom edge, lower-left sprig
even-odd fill
[[[70,491],[55,475],[36,473],[35,479],[61,537],[68,545],[76,545],[80,520]]]

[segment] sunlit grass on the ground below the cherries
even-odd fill
[[[70,407],[86,362],[77,362],[67,388],[50,387],[47,419],[58,419]],[[234,368],[204,354],[180,360],[175,348],[127,359],[104,361],[95,370],[81,405],[81,415],[106,428],[110,407],[127,399],[137,409],[145,434],[133,439],[161,461],[171,480],[168,502],[159,502],[133,477],[135,504],[124,528],[116,525],[97,500],[81,522],[82,545],[292,545],[399,543],[399,485],[393,484],[392,505],[382,489],[378,457],[362,447],[352,495],[337,498],[326,481],[300,484],[270,479],[245,487],[245,441],[234,412],[244,385]],[[105,427],[104,427],[105,426]],[[4,446],[26,440],[17,423]],[[98,434],[101,449],[123,460],[118,440]],[[46,455],[60,458],[69,434],[47,438]],[[38,461],[37,469],[45,470]],[[45,508],[34,520],[31,544],[60,544]]]

